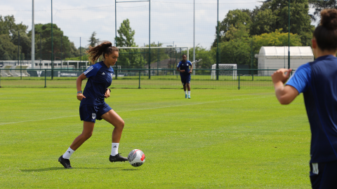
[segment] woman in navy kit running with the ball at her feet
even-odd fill
[[[83,132],[74,139],[72,145],[65,151],[65,154],[58,158],[58,161],[65,168],[72,168],[69,160],[70,156],[84,141],[91,137],[95,120],[102,119],[114,126],[112,132],[112,151],[109,158],[110,162],[125,162],[127,160],[127,158],[122,157],[118,153],[119,140],[121,139],[121,132],[123,132],[124,128],[124,120],[104,101],[104,98],[110,97],[111,91],[108,87],[111,85],[112,75],[114,73],[111,66],[116,64],[119,50],[112,46],[112,43],[109,41],[104,41],[100,43],[100,45],[90,48],[87,52],[93,65],[84,71],[76,80],[77,99],[81,101],[79,116],[81,120],[84,121]],[[104,60],[94,64],[101,55],[103,55]],[[88,78],[88,81],[84,92],[82,92],[82,80],[86,78]]]

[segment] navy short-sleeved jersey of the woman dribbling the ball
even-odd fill
[[[107,67],[103,62],[97,62],[84,71],[88,78],[83,95],[86,98],[81,100],[81,104],[101,105],[104,103],[104,94],[107,87],[111,85],[114,70]]]

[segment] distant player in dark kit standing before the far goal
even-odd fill
[[[187,99],[186,86],[188,90],[188,98],[189,99],[191,98],[190,82],[191,82],[192,69],[193,69],[192,63],[190,62],[190,60],[187,60],[186,55],[183,55],[183,60],[180,61],[179,64],[177,65],[177,71],[180,71],[180,79],[181,83],[183,83],[184,86],[185,99]]]

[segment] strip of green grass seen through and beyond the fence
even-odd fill
[[[75,87],[77,77],[2,77],[0,87]],[[83,86],[86,80],[83,81]],[[182,87],[180,76],[125,76],[113,79],[111,87],[128,89],[177,89]],[[192,89],[220,89],[238,90],[240,89],[260,89],[272,90],[272,79],[270,76],[237,76],[233,80],[232,76],[219,76],[219,80],[212,80],[210,76],[192,76]]]

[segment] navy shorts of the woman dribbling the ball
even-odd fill
[[[112,108],[106,103],[99,106],[82,104],[79,106],[79,117],[83,121],[95,123],[96,120],[102,120],[101,116],[110,110],[112,110]]]

